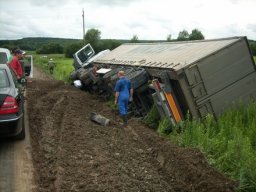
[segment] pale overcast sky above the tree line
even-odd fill
[[[0,39],[176,39],[198,29],[205,39],[247,36],[256,40],[256,0],[0,0]]]

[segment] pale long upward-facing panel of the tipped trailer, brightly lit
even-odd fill
[[[177,71],[243,39],[246,37],[161,43],[125,43],[95,62],[169,68]]]

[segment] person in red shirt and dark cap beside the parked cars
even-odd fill
[[[23,51],[21,51],[20,49],[16,49],[14,51],[14,57],[12,58],[9,66],[10,68],[13,70],[13,72],[15,73],[17,80],[19,83],[21,83],[21,79],[23,77],[23,69],[22,69],[22,65],[20,63],[20,59],[22,59],[22,54]]]

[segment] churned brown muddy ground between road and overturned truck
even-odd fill
[[[90,112],[115,118],[95,95],[36,72],[27,99],[35,191],[235,191],[199,150],[176,146],[138,119],[126,128],[92,122]]]

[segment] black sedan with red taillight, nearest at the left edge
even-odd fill
[[[15,74],[0,64],[0,137],[25,138],[24,96]]]

